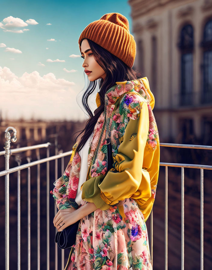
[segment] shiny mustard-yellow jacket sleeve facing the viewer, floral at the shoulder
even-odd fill
[[[118,153],[113,156],[113,168],[106,176],[92,177],[83,183],[82,199],[94,202],[101,210],[107,210],[121,200],[130,198],[141,183],[142,194],[139,197],[149,198],[151,187],[149,176],[143,176],[143,156],[149,130],[148,104],[137,94],[130,95],[131,103],[123,105],[128,123],[118,147]],[[127,105],[128,104],[128,105]],[[120,104],[121,105],[121,104]]]

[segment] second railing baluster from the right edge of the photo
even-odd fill
[[[184,168],[181,168],[181,270],[184,270]]]

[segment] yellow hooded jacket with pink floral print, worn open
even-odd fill
[[[99,95],[96,104],[100,105]],[[133,198],[145,221],[153,207],[159,174],[160,146],[152,112],[154,96],[147,77],[116,82],[105,93],[105,108],[94,127],[88,154],[88,172],[82,184],[82,199],[107,210],[126,198]],[[75,202],[81,158],[75,152],[64,174],[51,191],[58,209],[79,206]],[[107,144],[111,142],[112,153]],[[108,170],[108,154],[113,167]]]

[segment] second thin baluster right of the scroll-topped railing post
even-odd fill
[[[30,163],[31,158],[27,157],[27,162]],[[31,210],[31,179],[30,179],[30,167],[27,169],[27,250],[28,250],[28,270],[31,268],[31,232],[30,232],[30,226],[31,226],[31,217],[30,217],[30,210]]]

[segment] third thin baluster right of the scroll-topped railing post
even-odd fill
[[[37,159],[40,159],[39,149]],[[40,270],[40,164],[37,166],[37,270]]]

